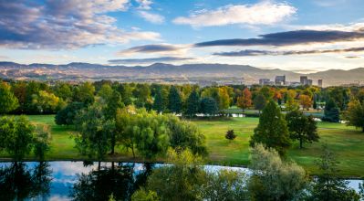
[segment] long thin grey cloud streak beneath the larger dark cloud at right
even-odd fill
[[[286,55],[307,55],[307,54],[323,54],[323,53],[345,53],[345,52],[361,52],[362,48],[343,48],[343,49],[325,49],[325,50],[301,50],[301,51],[269,51],[244,49],[241,51],[216,52],[213,55],[224,57],[253,57],[253,56],[286,56]],[[348,58],[348,57],[347,57]]]

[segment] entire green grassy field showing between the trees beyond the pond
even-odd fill
[[[48,125],[52,133],[52,150],[47,154],[48,160],[81,160],[85,157],[78,154],[74,148],[74,140],[70,137],[73,127],[58,126],[54,123],[54,115],[28,116],[36,125]],[[211,164],[247,165],[249,163],[249,138],[258,123],[257,118],[234,118],[219,120],[196,120],[195,122],[206,136],[210,153],[208,162]],[[227,130],[234,129],[237,138],[229,143],[224,138]],[[364,133],[353,127],[340,123],[318,122],[319,143],[305,144],[300,150],[298,144],[288,152],[288,158],[301,164],[310,174],[318,174],[315,160],[321,154],[322,143],[328,143],[340,162],[340,176],[364,176]],[[131,160],[131,153],[118,150],[115,160]],[[6,158],[5,153],[1,154]],[[32,159],[28,156],[27,159]],[[141,159],[138,159],[141,160]]]

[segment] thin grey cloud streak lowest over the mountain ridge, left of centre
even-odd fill
[[[172,62],[192,60],[194,58],[179,58],[179,57],[161,57],[161,58],[127,58],[127,59],[111,59],[110,64],[146,64],[156,62]]]

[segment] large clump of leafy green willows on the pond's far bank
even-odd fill
[[[97,99],[86,107],[68,104],[58,111],[56,122],[75,124],[76,147],[92,159],[102,160],[117,147],[146,159],[163,156],[169,147],[207,154],[204,136],[194,124],[172,114],[125,106],[120,93],[109,85],[101,86]]]

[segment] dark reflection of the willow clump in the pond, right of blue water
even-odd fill
[[[134,191],[144,185],[151,175],[151,164],[143,164],[142,170],[136,170],[135,164],[116,164],[99,166],[88,174],[78,175],[78,182],[70,191],[74,200],[130,200]]]

